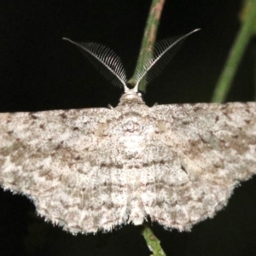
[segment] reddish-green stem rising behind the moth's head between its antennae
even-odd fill
[[[132,78],[128,81],[128,84],[131,84],[132,87],[136,84],[137,74],[143,72],[144,65],[148,63],[153,55],[154,42],[160,22],[160,15],[165,1],[166,0],[152,0],[144,31],[143,42],[137,60],[137,66]],[[146,77],[140,82],[138,90],[146,92]]]

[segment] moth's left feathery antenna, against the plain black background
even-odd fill
[[[83,55],[110,80],[112,84],[123,86],[125,91],[129,90],[126,86],[125,68],[119,56],[108,47],[96,43],[76,43],[68,38],[62,38],[71,44],[76,45]]]

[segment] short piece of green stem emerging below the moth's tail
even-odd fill
[[[153,231],[146,224],[144,224],[142,235],[147,242],[149,250],[153,253],[151,256],[166,256],[166,253],[160,246],[160,240],[154,236]]]

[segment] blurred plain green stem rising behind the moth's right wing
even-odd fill
[[[213,92],[212,102],[224,102],[229,90],[232,79],[236,74],[236,69],[241,61],[241,56],[244,54],[245,49],[250,38],[255,30],[256,20],[256,0],[250,1],[250,9],[247,13],[247,17],[241,25],[241,29],[236,36],[235,43],[230,50],[230,55],[226,61],[224,71],[221,74],[218,84]]]

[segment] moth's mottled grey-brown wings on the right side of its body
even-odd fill
[[[236,185],[256,173],[256,103],[160,105],[149,113],[170,150],[160,154],[157,203],[146,211],[167,228],[190,229],[213,217]],[[170,152],[176,168],[167,164]]]

